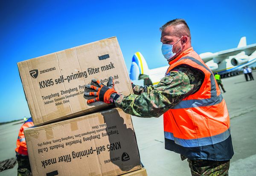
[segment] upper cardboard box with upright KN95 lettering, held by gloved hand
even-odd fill
[[[84,85],[90,84],[92,78],[106,85],[109,76],[113,76],[117,92],[123,95],[132,93],[116,37],[17,64],[35,125],[109,108],[102,102],[87,104],[84,99]]]

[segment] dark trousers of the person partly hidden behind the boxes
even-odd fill
[[[17,176],[32,176],[28,157],[17,156],[17,162],[18,162]]]

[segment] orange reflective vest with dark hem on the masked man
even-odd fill
[[[188,159],[231,159],[230,118],[212,71],[192,47],[169,64],[166,73],[187,65],[202,72],[204,81],[197,92],[164,113],[165,148]]]

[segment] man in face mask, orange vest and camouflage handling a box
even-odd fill
[[[227,176],[233,146],[230,119],[224,98],[212,71],[191,46],[191,36],[183,19],[167,22],[160,28],[162,53],[169,63],[166,75],[156,87],[133,86],[134,94],[115,91],[113,78],[107,86],[87,85],[96,96],[87,103],[113,103],[125,113],[138,117],[163,114],[165,148],[187,159],[192,176]]]

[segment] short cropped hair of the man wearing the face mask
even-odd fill
[[[182,37],[183,35],[186,35],[191,38],[189,26],[184,19],[179,18],[168,21],[162,27],[160,27],[160,31],[163,31],[169,26],[175,26],[175,34],[177,35],[177,37]]]

